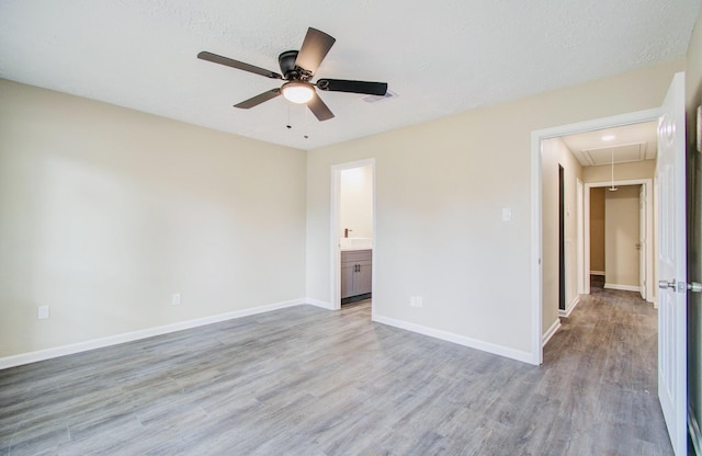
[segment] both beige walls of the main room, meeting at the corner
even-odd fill
[[[0,356],[305,295],[331,303],[330,167],[376,158],[374,314],[523,357],[534,283],[531,132],[659,106],[681,68],[655,66],[307,158],[0,81]],[[172,293],[181,306],[169,305]],[[410,296],[423,307],[410,307]],[[42,304],[52,318],[37,321]]]

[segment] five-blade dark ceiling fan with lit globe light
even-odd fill
[[[293,103],[307,104],[307,107],[315,114],[317,119],[327,121],[332,118],[333,114],[317,95],[315,88],[328,92],[363,93],[380,96],[385,95],[387,92],[386,82],[351,81],[347,79],[318,79],[317,82],[312,82],[315,71],[317,71],[319,64],[327,56],[335,42],[336,39],[332,36],[324,32],[312,27],[307,29],[307,35],[305,35],[305,41],[299,52],[285,50],[278,56],[282,75],[206,50],[197,54],[197,58],[267,78],[286,81],[279,89],[265,91],[239,104],[235,104],[234,107],[248,110],[282,94]]]

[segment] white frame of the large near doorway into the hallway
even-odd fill
[[[541,146],[545,139],[576,133],[658,121],[660,109],[636,111],[575,124],[561,125],[531,133],[531,362],[543,363],[543,207]],[[586,250],[587,251],[587,250]]]

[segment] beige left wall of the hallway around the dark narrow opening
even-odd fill
[[[577,264],[577,179],[582,167],[559,138],[546,139],[541,146],[542,160],[542,232],[543,232],[543,314],[542,329],[546,332],[558,320],[558,166],[564,170],[565,184],[565,265],[566,306],[578,297]]]

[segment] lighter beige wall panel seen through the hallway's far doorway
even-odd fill
[[[638,287],[641,185],[604,193],[604,286]]]

